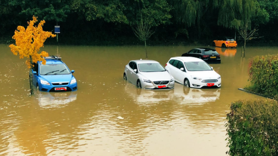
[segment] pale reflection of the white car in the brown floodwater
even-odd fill
[[[202,105],[207,102],[216,101],[220,96],[219,88],[197,89],[188,88],[182,84],[175,83],[174,100],[180,104]]]

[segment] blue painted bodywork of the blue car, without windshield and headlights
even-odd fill
[[[69,68],[66,64],[61,61],[60,59],[46,59],[46,65],[57,65],[57,64],[64,64],[68,71]],[[69,74],[59,74],[59,71],[50,73],[50,74],[41,74],[41,66],[42,62],[38,62],[36,64],[36,74],[32,74],[33,76],[33,84],[36,86],[40,91],[75,91],[77,90],[77,82],[70,84],[71,80],[74,80],[75,77],[70,72]],[[41,80],[47,81],[49,85],[42,84]],[[75,79],[76,80],[76,79]]]

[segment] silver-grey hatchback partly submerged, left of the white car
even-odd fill
[[[130,81],[138,88],[173,89],[174,78],[157,61],[132,60],[124,68],[124,80]]]

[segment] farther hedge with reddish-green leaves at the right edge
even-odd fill
[[[278,94],[278,55],[256,56],[250,61],[246,90],[275,97]]]

